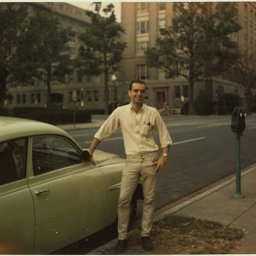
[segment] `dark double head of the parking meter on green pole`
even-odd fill
[[[231,112],[231,129],[234,133],[239,133],[240,136],[245,129],[245,116],[246,113],[240,107],[235,107]]]

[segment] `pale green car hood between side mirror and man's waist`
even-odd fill
[[[121,158],[119,155],[107,153],[101,150],[95,150],[93,153],[93,161],[96,165],[103,166],[124,163],[125,159]]]

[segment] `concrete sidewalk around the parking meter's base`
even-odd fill
[[[218,221],[232,228],[243,229],[244,237],[240,240],[240,248],[231,254],[256,253],[256,164],[241,172],[240,193],[236,198],[236,176],[220,182],[216,187],[192,197],[181,204],[172,205],[155,212],[155,220],[165,214],[175,213],[196,219]],[[177,202],[178,203],[178,202]],[[177,204],[176,203],[176,204]]]

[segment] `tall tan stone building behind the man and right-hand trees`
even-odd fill
[[[239,33],[232,34],[231,39],[238,42],[244,51],[256,52],[255,4],[238,2],[236,5],[242,29]],[[173,16],[172,2],[122,3],[121,25],[126,30],[123,41],[127,42],[127,48],[123,54],[121,74],[124,80],[146,80],[148,90],[145,101],[157,109],[163,108],[165,102],[172,108],[182,108],[189,96],[188,81],[183,77],[166,79],[163,71],[150,69],[145,64],[144,50],[155,46],[159,29],[170,27]],[[210,82],[197,82],[194,99],[203,90],[208,91],[211,101],[217,100],[216,91],[219,96],[223,93],[240,95],[245,101],[244,89],[237,81],[238,70],[231,68],[219,77],[212,77]]]

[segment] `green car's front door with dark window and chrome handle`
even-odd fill
[[[36,216],[35,253],[57,251],[104,226],[107,187],[101,168],[84,163],[67,138],[32,139],[29,187]]]

